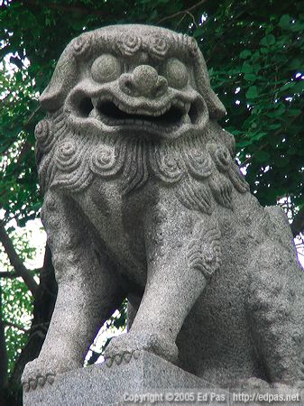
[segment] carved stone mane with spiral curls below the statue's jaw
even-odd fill
[[[117,176],[123,180],[122,192],[129,193],[156,177],[177,183],[176,193],[188,207],[211,214],[216,199],[231,208],[233,189],[244,193],[248,184],[233,161],[233,136],[223,130],[218,134],[218,128],[210,124],[201,136],[160,143],[144,137],[70,133],[59,113],[41,121],[35,131],[41,186],[77,193],[95,177]]]

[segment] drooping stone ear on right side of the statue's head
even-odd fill
[[[198,91],[206,101],[209,116],[212,119],[222,118],[226,115],[226,108],[210,86],[206,62],[201,51],[198,50],[195,58],[194,73],[198,85]]]

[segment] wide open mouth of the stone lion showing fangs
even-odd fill
[[[198,102],[184,103],[174,100],[157,111],[146,108],[131,108],[110,99],[91,100],[82,98],[78,103],[78,115],[95,118],[109,126],[144,126],[155,129],[177,129],[182,125],[196,125],[199,122]]]

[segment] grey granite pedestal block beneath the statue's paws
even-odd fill
[[[204,388],[206,390],[204,391]],[[208,389],[207,389],[208,388]],[[60,374],[51,385],[24,392],[24,406],[80,406],[110,404],[187,404],[174,401],[168,393],[181,392],[181,397],[197,397],[193,392],[209,392],[210,384],[186,373],[157,355],[141,352],[129,364],[96,364],[67,374]],[[222,391],[225,392],[225,391]],[[182,394],[182,393],[185,393]],[[189,393],[189,394],[187,394]],[[140,395],[145,396],[141,400]],[[159,397],[158,397],[159,396]],[[205,404],[210,404],[208,401]],[[197,404],[191,401],[189,404]],[[216,403],[211,403],[216,404]],[[223,402],[221,403],[223,404]],[[227,404],[224,402],[224,404]]]

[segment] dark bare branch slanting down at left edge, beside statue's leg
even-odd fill
[[[13,243],[6,233],[5,226],[1,223],[0,223],[0,242],[5,248],[5,253],[8,256],[10,263],[14,267],[14,271],[17,273],[18,276],[21,276],[23,278],[24,283],[32,292],[32,296],[34,296],[36,291],[38,290],[39,285],[33,279],[29,270],[24,266],[20,256],[16,253]]]

